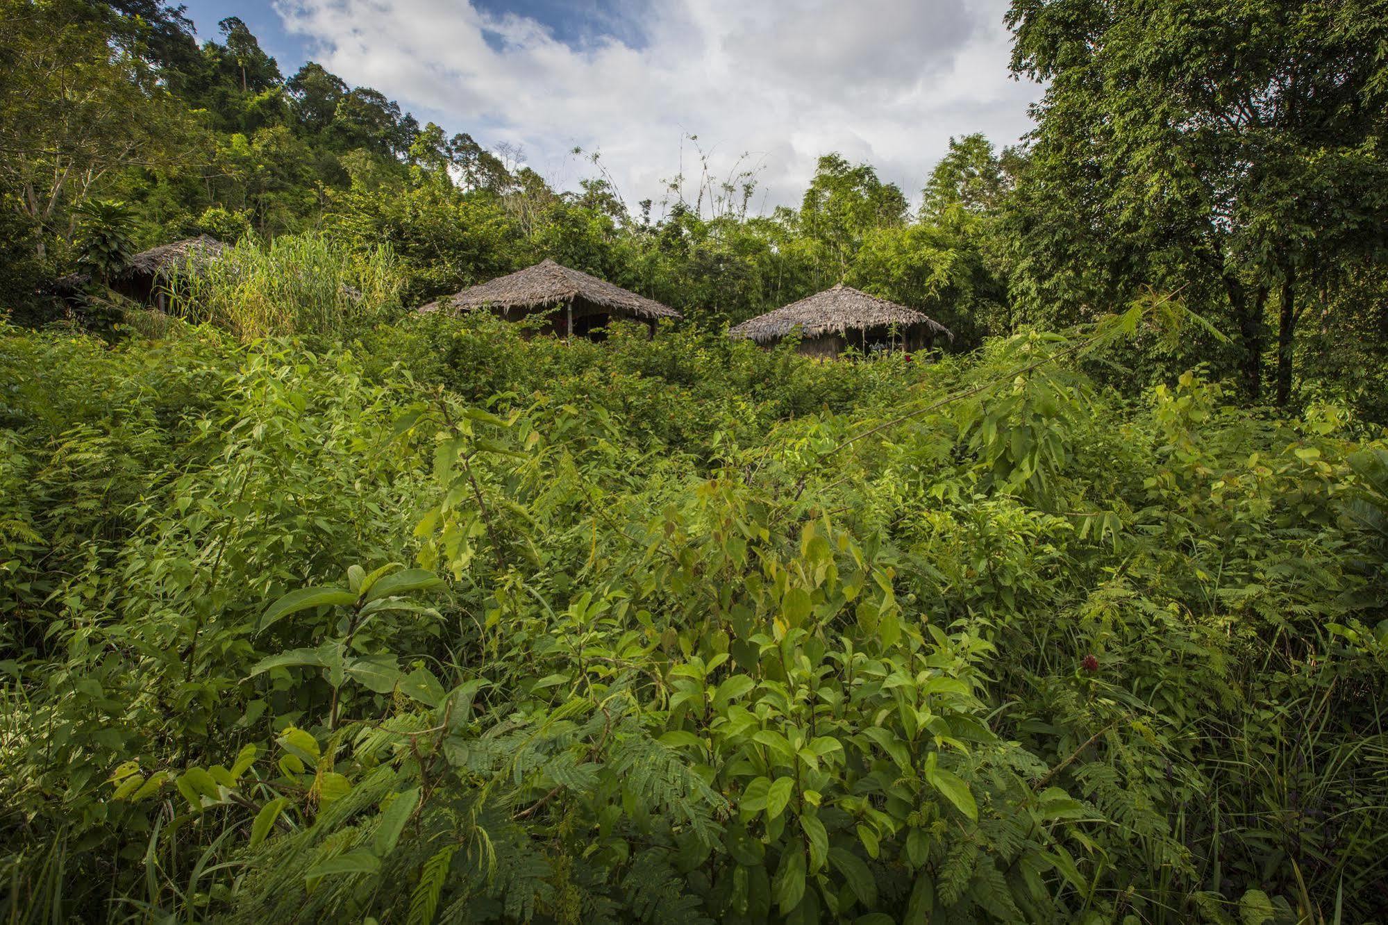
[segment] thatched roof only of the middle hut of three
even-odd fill
[[[497,276],[490,282],[464,289],[454,296],[422,306],[419,311],[454,311],[476,308],[543,308],[582,299],[609,311],[637,318],[680,318],[680,312],[634,292],[613,286],[597,276],[561,267],[552,260],[541,260],[534,267]]]

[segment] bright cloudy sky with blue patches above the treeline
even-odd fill
[[[1009,144],[1034,85],[1008,75],[1004,0],[189,0],[239,15],[293,74],[316,60],[450,133],[519,144],[559,186],[601,151],[623,197],[748,154],[754,208],[797,203],[820,154],[916,194],[951,135]]]

